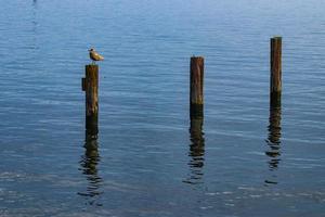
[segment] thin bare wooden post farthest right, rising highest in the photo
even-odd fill
[[[271,76],[270,76],[270,104],[281,106],[282,92],[282,37],[271,38]]]

